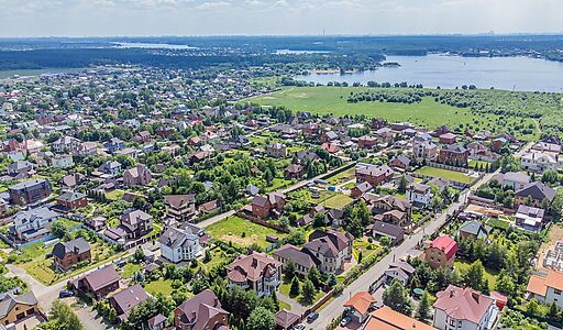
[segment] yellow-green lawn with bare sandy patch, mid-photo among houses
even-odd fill
[[[206,231],[213,239],[232,242],[239,246],[249,246],[252,243],[257,243],[262,248],[267,248],[271,243],[266,241],[266,235],[277,237],[279,239],[287,237],[286,233],[260,226],[240,217],[229,217],[216,222],[207,227]]]

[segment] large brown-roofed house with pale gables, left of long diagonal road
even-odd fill
[[[309,235],[303,251],[320,261],[319,271],[334,274],[344,270],[344,264],[352,260],[354,237],[349,232],[333,229],[316,230]]]

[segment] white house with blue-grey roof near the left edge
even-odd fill
[[[15,213],[11,232],[18,240],[29,242],[48,235],[51,224],[60,217],[46,207]]]

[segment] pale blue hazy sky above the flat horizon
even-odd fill
[[[0,36],[563,33],[562,0],[0,0]]]

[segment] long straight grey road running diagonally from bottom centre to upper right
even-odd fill
[[[482,179],[477,180],[475,185],[471,187],[471,189],[465,189],[460,195],[460,201],[452,204],[435,220],[430,221],[423,228],[419,228],[418,230],[416,230],[415,233],[406,238],[400,245],[394,248],[389,254],[387,254],[378,263],[373,265],[356,280],[346,286],[346,288],[342,292],[342,295],[335,297],[329,305],[321,309],[319,311],[319,318],[308,327],[311,329],[325,329],[335,317],[342,314],[342,306],[347,299],[350,299],[350,297],[353,294],[357,292],[367,292],[372,283],[379,278],[384,274],[384,272],[390,266],[391,263],[398,261],[409,250],[415,249],[419,242],[422,242],[424,235],[430,235],[434,233],[446,221],[448,215],[452,215],[463,205],[463,202],[466,200],[471,191],[481,187],[483,184],[488,182],[490,177],[493,177],[493,175],[497,173],[498,170],[495,173],[486,174]]]

